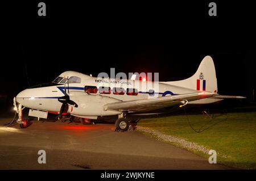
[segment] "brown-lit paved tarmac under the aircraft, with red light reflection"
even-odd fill
[[[114,124],[34,120],[25,129],[2,127],[10,120],[0,118],[0,169],[227,169],[138,131],[114,132]]]

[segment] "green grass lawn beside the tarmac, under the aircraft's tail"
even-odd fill
[[[256,112],[214,115],[179,115],[142,119],[138,125],[184,138],[217,151],[217,163],[239,169],[256,169]],[[188,118],[187,118],[188,117]],[[197,133],[193,131],[206,129]],[[205,158],[208,154],[198,153]]]

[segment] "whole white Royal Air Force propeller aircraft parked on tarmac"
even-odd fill
[[[222,98],[217,94],[213,60],[206,56],[192,77],[174,82],[102,79],[65,71],[51,83],[20,92],[14,98],[14,110],[19,114],[17,123],[21,128],[27,127],[27,121],[22,117],[22,110],[27,107],[30,116],[44,119],[48,112],[58,113],[59,119],[66,113],[81,120],[115,115],[116,130],[127,131],[133,122],[127,118],[129,113],[208,104]]]

